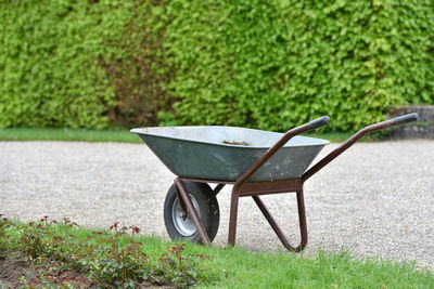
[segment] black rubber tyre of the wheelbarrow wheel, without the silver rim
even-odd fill
[[[208,184],[183,182],[190,196],[194,197],[197,201],[200,209],[200,219],[205,228],[206,234],[209,237],[209,241],[213,241],[217,235],[219,222],[220,222],[220,210],[216,195]],[[201,242],[201,237],[197,231],[191,235],[182,235],[175,226],[173,220],[173,206],[175,200],[178,199],[175,185],[171,185],[167,192],[166,199],[164,201],[164,223],[166,225],[167,233],[173,240],[190,240],[192,242]]]

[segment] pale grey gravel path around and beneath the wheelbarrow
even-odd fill
[[[92,227],[119,221],[167,238],[163,203],[174,178],[143,144],[0,142],[0,213],[9,218],[68,216]],[[226,187],[214,241],[220,247],[229,200]],[[263,200],[295,245],[295,195]],[[305,203],[307,254],[346,248],[434,271],[434,141],[358,143],[306,183]],[[282,249],[251,198],[240,200],[237,244]]]

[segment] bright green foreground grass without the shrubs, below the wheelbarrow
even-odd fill
[[[65,234],[63,225],[55,229]],[[17,240],[22,233],[8,229],[8,234]],[[86,241],[93,233],[73,228],[68,234],[77,236],[76,241]],[[176,245],[157,237],[136,238],[153,260]],[[11,239],[10,246],[14,244]],[[207,248],[187,242],[184,254],[207,257],[199,262],[200,288],[434,288],[434,275],[427,270],[381,259],[360,261],[346,251],[320,251],[308,258],[303,253],[250,252],[239,247]]]

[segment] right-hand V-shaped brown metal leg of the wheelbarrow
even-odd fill
[[[303,200],[303,189],[297,192],[298,219],[299,219],[299,231],[301,231],[302,241],[301,241],[299,246],[296,248],[291,246],[291,244],[288,241],[283,232],[280,229],[279,225],[276,223],[275,219],[272,218],[272,215],[270,214],[268,209],[265,207],[265,205],[260,200],[260,198],[258,196],[253,196],[252,198],[258,206],[259,210],[263,212],[264,216],[267,219],[268,223],[275,231],[276,235],[278,235],[282,245],[289,251],[299,252],[301,250],[303,250],[306,247],[306,245],[307,245],[307,226],[306,226],[306,215],[305,215],[305,207],[304,207],[304,200]]]

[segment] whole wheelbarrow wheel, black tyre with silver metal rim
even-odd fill
[[[220,210],[216,195],[208,184],[194,182],[184,182],[184,184],[209,241],[213,241],[220,222]],[[175,185],[170,186],[164,201],[164,223],[173,240],[201,242],[201,237],[190,214],[183,215]]]

